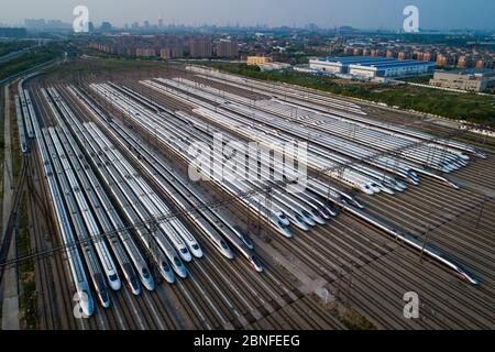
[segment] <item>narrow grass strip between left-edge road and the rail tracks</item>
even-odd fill
[[[26,255],[31,253],[31,234],[29,230],[28,220],[28,202],[26,194],[22,195],[21,199],[21,217],[19,221],[18,234],[18,254]],[[24,329],[38,329],[38,314],[37,314],[37,292],[36,279],[34,272],[34,261],[23,261],[19,264],[20,278],[20,319]]]

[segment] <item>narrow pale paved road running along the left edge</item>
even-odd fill
[[[6,141],[6,155],[3,164],[3,219],[2,229],[7,229],[10,212],[12,210],[12,141],[10,139],[10,97],[9,85],[6,86],[6,112],[4,112],[4,141]],[[3,231],[0,234],[3,238]],[[0,242],[1,243],[1,242]],[[9,251],[9,258],[15,255],[15,238],[12,240]],[[3,293],[0,295],[3,298],[2,301],[2,330],[18,330],[19,329],[19,296],[18,296],[18,273],[15,267],[9,267],[6,270],[3,276]]]

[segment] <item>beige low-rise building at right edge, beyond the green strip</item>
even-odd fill
[[[495,88],[495,69],[437,70],[430,85],[449,89],[484,91]]]

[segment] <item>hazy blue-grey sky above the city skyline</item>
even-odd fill
[[[85,4],[90,21],[122,25],[148,20],[175,24],[268,24],[399,29],[407,4],[419,8],[424,29],[495,29],[495,0],[0,0],[0,22],[26,18],[73,22]]]

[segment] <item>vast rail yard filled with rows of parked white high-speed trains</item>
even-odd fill
[[[41,329],[493,329],[491,140],[199,66],[12,99]]]

